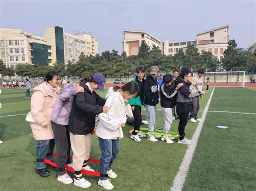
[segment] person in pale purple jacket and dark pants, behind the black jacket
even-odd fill
[[[81,82],[83,83],[83,80],[81,80]],[[71,145],[68,124],[73,96],[77,95],[79,92],[84,92],[84,88],[79,86],[79,83],[68,83],[65,88],[60,91],[51,115],[52,131],[57,146],[57,180],[65,184],[73,182],[65,169],[65,165],[71,164],[69,159]]]

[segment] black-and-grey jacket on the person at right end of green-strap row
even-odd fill
[[[201,91],[191,92],[190,82],[185,82],[183,79],[178,79],[178,84],[184,83],[178,90],[177,95],[177,113],[186,113],[193,110],[192,97],[202,95]]]

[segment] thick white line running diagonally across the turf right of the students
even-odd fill
[[[193,159],[193,154],[194,154],[194,151],[196,150],[196,147],[197,147],[198,138],[200,136],[201,129],[202,129],[203,124],[205,122],[205,117],[206,117],[208,108],[210,106],[211,100],[212,100],[214,89],[215,88],[213,88],[211,96],[210,96],[210,98],[209,98],[209,100],[206,104],[203,115],[201,117],[201,121],[197,125],[197,129],[194,132],[194,135],[192,137],[192,144],[188,145],[186,153],[185,153],[184,158],[183,158],[183,161],[181,162],[181,165],[179,167],[179,172],[176,174],[176,176],[173,180],[172,186],[170,188],[171,191],[181,191],[181,189],[184,186],[186,176],[187,176],[188,170],[190,169],[190,164],[191,164],[192,159]]]

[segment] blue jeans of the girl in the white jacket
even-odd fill
[[[99,137],[99,147],[102,151],[102,157],[100,158],[99,172],[100,180],[106,180],[106,172],[111,169],[114,159],[120,150],[119,139],[102,139]]]

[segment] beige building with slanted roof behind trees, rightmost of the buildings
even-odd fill
[[[221,61],[223,59],[223,52],[227,48],[228,40],[228,25],[221,26],[198,33],[196,40],[169,42],[169,40],[165,39],[163,43],[163,54],[174,55],[179,48],[186,50],[186,46],[192,44],[198,48],[198,52],[212,52],[214,57]]]

